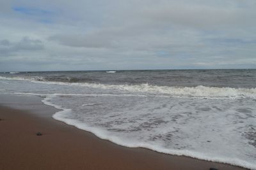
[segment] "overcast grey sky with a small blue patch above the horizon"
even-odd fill
[[[1,0],[0,71],[256,69],[255,0]]]

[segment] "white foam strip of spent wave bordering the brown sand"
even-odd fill
[[[184,156],[188,156],[188,157],[193,157],[195,159],[208,160],[208,161],[213,161],[213,162],[221,162],[221,163],[227,163],[227,164],[230,164],[233,166],[245,167],[245,168],[249,168],[249,169],[256,169],[255,164],[252,164],[245,160],[232,158],[232,157],[221,157],[221,156],[211,155],[209,153],[200,153],[200,152],[195,152],[195,151],[191,151],[191,150],[175,150],[175,149],[170,149],[170,148],[164,148],[163,146],[153,145],[151,143],[132,141],[131,139],[124,140],[118,136],[115,136],[115,134],[112,134],[111,132],[106,131],[105,129],[101,129],[99,127],[93,127],[84,122],[80,122],[79,120],[67,118],[67,115],[70,114],[70,112],[72,112],[72,110],[62,108],[59,105],[49,102],[54,96],[55,95],[50,95],[50,96],[45,97],[42,100],[42,102],[44,104],[54,106],[55,108],[61,110],[61,111],[56,112],[54,115],[52,115],[52,118],[59,120],[61,122],[64,122],[68,125],[73,125],[74,127],[77,127],[78,129],[92,132],[93,134],[95,134],[95,136],[97,136],[100,139],[105,139],[105,140],[111,141],[113,143],[116,143],[117,145],[129,147],[129,148],[148,148],[150,150],[154,150],[159,153],[167,153],[167,154],[171,154],[171,155],[180,155],[180,156],[184,155]],[[95,104],[95,103],[93,103],[93,104]]]

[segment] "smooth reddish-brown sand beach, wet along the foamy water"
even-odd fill
[[[245,169],[116,145],[50,118],[58,110],[40,97],[6,96],[0,96],[0,169]]]

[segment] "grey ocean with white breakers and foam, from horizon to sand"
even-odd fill
[[[256,169],[256,69],[8,72],[0,93],[118,145]]]

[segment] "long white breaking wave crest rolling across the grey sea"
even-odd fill
[[[95,89],[106,89],[106,90],[122,90],[126,92],[142,92],[148,94],[165,94],[170,97],[205,97],[205,98],[216,98],[216,97],[250,97],[256,98],[256,88],[231,88],[231,87],[205,87],[202,85],[196,87],[168,87],[168,86],[157,86],[148,85],[148,83],[142,83],[140,85],[109,85],[101,83],[68,83],[61,81],[38,81],[35,78],[21,78],[13,77],[6,78],[0,76],[0,80],[22,80],[31,81],[33,83],[45,83],[54,85],[70,85],[79,87],[88,87]]]

